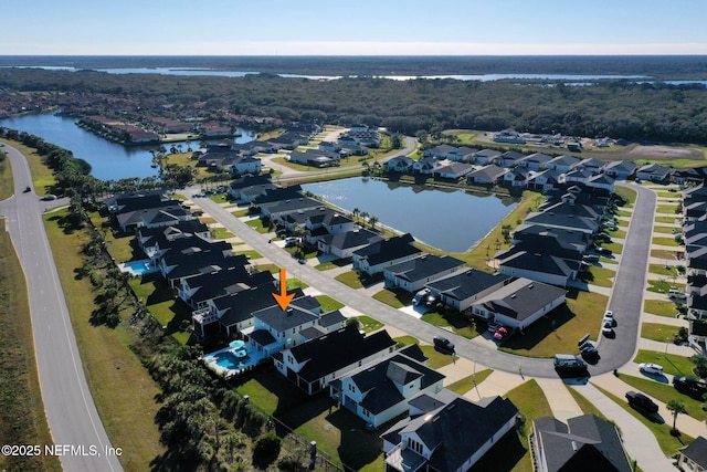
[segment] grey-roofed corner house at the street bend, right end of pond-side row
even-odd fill
[[[472,305],[472,314],[523,331],[564,301],[564,289],[520,277],[478,298]]]

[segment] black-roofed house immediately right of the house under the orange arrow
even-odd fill
[[[326,336],[287,347],[274,355],[273,361],[278,373],[308,395],[314,395],[352,370],[382,359],[394,348],[395,342],[387,331],[363,336],[357,326],[348,325]]]

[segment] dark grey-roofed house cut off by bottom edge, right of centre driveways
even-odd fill
[[[632,472],[616,427],[594,415],[567,420],[542,417],[532,421],[530,440],[538,472]]]

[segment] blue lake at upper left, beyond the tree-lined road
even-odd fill
[[[130,177],[149,177],[157,175],[151,167],[152,155],[150,149],[155,146],[123,146],[104,139],[76,125],[76,118],[67,118],[57,115],[25,115],[14,118],[0,119],[0,126],[17,129],[41,137],[48,143],[68,149],[74,157],[84,159],[91,164],[91,175],[102,180],[118,180]],[[254,136],[245,130],[235,139],[236,143],[245,143],[254,139]],[[191,141],[196,150],[201,141]],[[173,143],[187,150],[188,144]],[[172,143],[165,145],[167,149]]]

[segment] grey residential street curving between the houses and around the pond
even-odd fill
[[[655,193],[639,186],[630,187],[639,192],[639,198],[634,208],[634,218],[626,235],[613,295],[610,300],[610,307],[616,313],[616,336],[613,339],[605,338],[601,340],[600,354],[602,359],[597,365],[590,366],[589,371],[591,375],[612,371],[631,361],[636,347],[641,312],[643,310],[643,290],[646,280]],[[197,187],[191,190],[199,192]],[[260,254],[270,259],[274,264],[285,268],[292,276],[303,280],[308,285],[365,315],[370,315],[389,326],[410,333],[430,344],[434,336],[442,335],[454,343],[458,356],[476,360],[493,369],[510,373],[520,370],[523,375],[531,377],[557,377],[551,359],[537,359],[506,354],[490,346],[472,343],[452,332],[416,319],[399,310],[370,298],[360,291],[333,280],[326,272],[297,263],[289,253],[274,244],[268,244],[267,237],[234,218],[212,200],[201,198],[197,201],[197,204],[202,207],[229,231],[238,234]],[[603,308],[599,307],[598,310]]]

